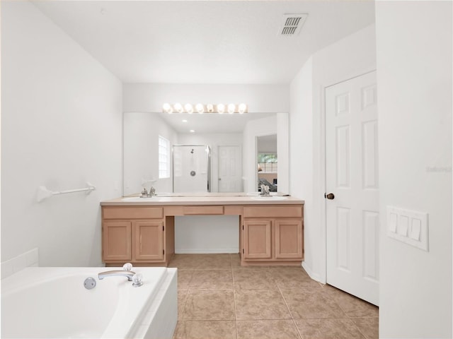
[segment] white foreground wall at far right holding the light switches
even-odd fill
[[[408,15],[410,13],[410,15]],[[377,1],[380,338],[452,338],[452,2]],[[429,215],[429,251],[386,236]]]

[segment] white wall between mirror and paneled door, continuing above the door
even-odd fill
[[[326,282],[324,90],[375,68],[370,25],[313,54],[290,85],[289,191],[305,200],[303,265],[321,282]]]

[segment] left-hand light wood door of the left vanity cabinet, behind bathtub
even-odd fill
[[[103,261],[130,261],[131,222],[106,221],[102,230]]]

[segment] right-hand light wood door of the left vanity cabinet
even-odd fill
[[[134,261],[164,261],[164,222],[133,221]]]

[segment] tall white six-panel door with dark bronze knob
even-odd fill
[[[376,72],[326,88],[327,283],[379,304]]]

